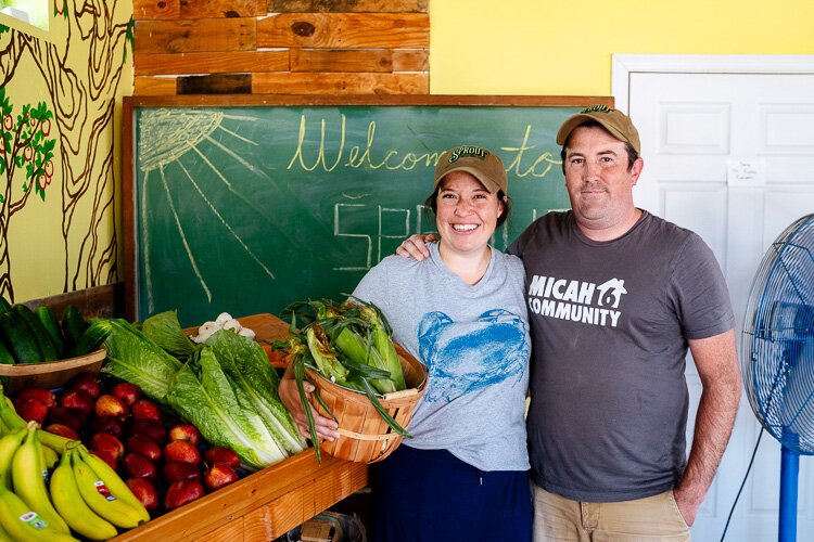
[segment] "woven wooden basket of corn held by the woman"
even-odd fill
[[[386,393],[379,398],[379,402],[407,429],[416,405],[427,389],[428,375],[424,365],[399,345],[396,345],[396,352],[407,389]],[[310,369],[306,369],[306,375],[339,423],[341,437],[333,442],[321,440],[320,451],[341,460],[376,463],[390,455],[402,442],[403,437],[393,433],[365,393],[338,386]],[[330,417],[321,406],[319,413]]]

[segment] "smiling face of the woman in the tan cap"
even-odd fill
[[[504,204],[466,171],[453,171],[441,183],[435,225],[441,243],[457,253],[482,250],[495,233]]]

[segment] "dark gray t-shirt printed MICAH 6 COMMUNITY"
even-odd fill
[[[595,242],[571,211],[542,217],[509,251],[526,270],[535,482],[588,502],[672,489],[686,464],[687,340],[733,328],[712,251],[647,212]]]

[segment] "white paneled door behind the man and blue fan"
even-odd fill
[[[681,73],[675,64],[656,73],[661,68],[649,69],[649,60],[647,70],[624,66],[624,85],[618,85],[614,72],[616,106],[628,112],[641,137],[645,169],[636,205],[696,231],[711,246],[732,293],[738,343],[765,250],[787,225],[814,212],[814,62],[807,59],[807,74]],[[614,59],[614,70],[619,65]],[[687,382],[692,421],[701,386],[691,362]],[[743,396],[692,527],[695,540],[721,539],[760,427]],[[689,441],[691,423],[687,431]],[[777,540],[779,474],[780,444],[764,434],[726,540]],[[814,540],[812,456],[800,457],[798,500],[798,540]]]

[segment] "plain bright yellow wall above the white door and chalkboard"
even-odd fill
[[[611,54],[814,54],[811,0],[434,0],[433,94],[610,95]]]

